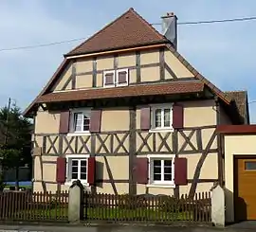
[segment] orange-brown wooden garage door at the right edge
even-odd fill
[[[256,156],[234,161],[235,219],[256,220]]]

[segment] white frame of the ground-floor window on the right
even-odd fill
[[[147,187],[175,187],[174,184],[174,154],[149,154],[149,183]],[[154,160],[161,160],[161,181],[154,181]],[[172,181],[163,180],[164,176],[164,160],[172,160]]]

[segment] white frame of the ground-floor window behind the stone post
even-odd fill
[[[72,178],[70,178],[70,174],[72,175],[72,173],[70,171],[71,168],[71,164],[70,162],[72,162],[72,160],[86,160],[86,180],[80,180],[82,185],[83,186],[89,186],[88,184],[88,158],[90,157],[89,154],[67,154],[65,155],[65,158],[66,158],[66,166],[65,166],[65,185],[67,186],[71,186],[73,181],[76,181]],[[80,173],[80,169],[78,170],[79,171],[79,175],[81,174]]]

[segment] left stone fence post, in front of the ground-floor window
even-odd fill
[[[68,192],[68,222],[80,223],[83,217],[83,187],[80,180],[74,181]]]

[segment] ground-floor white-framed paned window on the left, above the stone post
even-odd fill
[[[88,159],[81,155],[67,155],[67,182],[80,180],[82,184],[87,184]]]

